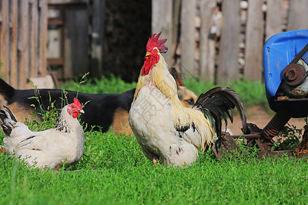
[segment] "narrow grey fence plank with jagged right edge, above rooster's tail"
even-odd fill
[[[209,58],[209,29],[211,27],[211,16],[213,9],[216,7],[216,0],[201,0],[200,1],[200,61],[199,69],[201,79],[205,82],[214,83],[214,55]],[[215,48],[214,48],[215,49]],[[213,49],[211,49],[213,51]]]

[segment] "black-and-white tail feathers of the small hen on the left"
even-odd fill
[[[0,124],[3,129],[3,133],[9,136],[13,130],[14,124],[17,122],[17,119],[9,107],[5,105],[3,105],[3,107],[4,109],[0,110]]]

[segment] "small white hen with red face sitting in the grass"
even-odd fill
[[[79,100],[66,105],[55,128],[41,132],[30,131],[17,122],[10,108],[0,110],[0,123],[7,137],[3,139],[10,156],[21,156],[34,167],[59,169],[63,163],[71,165],[84,154],[84,130],[77,117],[84,113]]]

